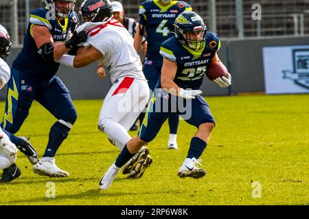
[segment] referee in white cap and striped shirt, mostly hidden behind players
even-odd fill
[[[126,27],[130,35],[134,38],[135,33],[137,31],[137,26],[138,26],[137,21],[135,21],[134,18],[128,18],[124,16],[124,7],[122,6],[122,3],[120,3],[119,1],[112,1],[111,4],[113,8],[114,18],[120,23],[122,23],[122,25]],[[146,38],[144,37],[143,40],[141,41],[141,56],[143,60],[145,59],[146,49],[147,49],[147,41],[146,41]],[[105,68],[102,62],[100,61],[99,61],[98,68],[97,68],[97,74],[100,77],[106,77]],[[130,128],[130,131],[136,131],[138,128],[139,127],[138,127],[138,118],[137,118],[133,126]]]

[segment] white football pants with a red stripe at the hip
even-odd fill
[[[146,107],[149,95],[147,81],[131,77],[119,79],[106,95],[98,127],[121,151],[131,138],[128,130]]]

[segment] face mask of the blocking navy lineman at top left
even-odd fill
[[[76,0],[45,0],[46,5],[54,5],[56,16],[67,18],[74,10]]]

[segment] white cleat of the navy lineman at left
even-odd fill
[[[38,175],[49,177],[69,177],[69,172],[61,170],[56,166],[54,157],[43,157],[33,167],[33,171]]]

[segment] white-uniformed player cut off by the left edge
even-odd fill
[[[10,79],[10,67],[6,64],[5,59],[11,46],[8,31],[0,25],[0,89]],[[10,141],[10,138],[0,127],[0,169],[3,170],[0,183],[12,181],[21,175],[21,170],[14,164],[17,151],[15,144]]]

